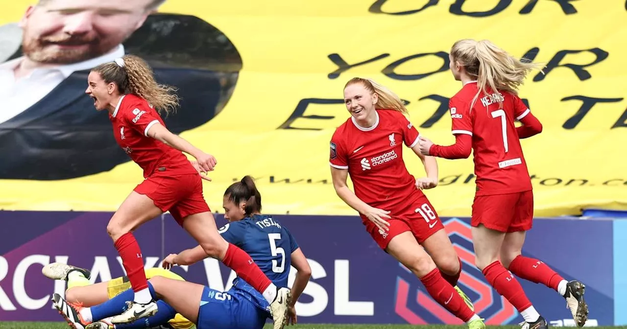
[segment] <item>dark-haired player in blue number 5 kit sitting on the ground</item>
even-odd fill
[[[311,276],[307,258],[300,250],[292,234],[277,219],[261,214],[261,194],[250,176],[231,184],[224,192],[224,218],[229,223],[219,229],[223,238],[250,254],[251,260],[277,286],[287,286],[290,266],[297,269],[291,289],[288,323],[296,323],[294,305],[305,290]],[[189,265],[206,258],[201,246],[170,254],[164,259],[164,268]],[[67,303],[60,295],[53,295],[53,305],[71,326],[82,329],[147,328],[167,324],[176,313],[196,324],[196,328],[261,329],[266,318],[271,318],[270,305],[265,298],[241,278],[233,280],[233,287],[226,292],[187,281],[154,276],[149,280],[154,298],[164,301],[157,313],[132,323],[110,323],[109,318],[127,307],[133,300],[133,291],[120,293],[105,303],[82,308]],[[161,313],[161,314],[160,314]],[[167,313],[165,316],[163,313]]]

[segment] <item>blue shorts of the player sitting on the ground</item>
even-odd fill
[[[267,313],[238,295],[204,287],[197,329],[261,329]]]

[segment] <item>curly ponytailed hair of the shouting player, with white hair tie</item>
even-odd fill
[[[137,56],[124,55],[121,60],[103,63],[92,71],[100,73],[105,83],[115,83],[120,93],[144,98],[159,113],[176,112],[179,106],[176,88],[159,85],[148,63]]]

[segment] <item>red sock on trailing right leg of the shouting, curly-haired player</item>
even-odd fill
[[[226,255],[224,255],[222,263],[233,269],[240,278],[244,279],[256,291],[262,294],[272,283],[266,274],[263,274],[259,266],[253,262],[253,259],[234,244],[229,243],[229,248],[226,249]]]

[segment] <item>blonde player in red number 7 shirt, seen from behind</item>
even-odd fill
[[[587,320],[583,283],[566,281],[547,264],[521,254],[525,233],[532,227],[534,196],[520,138],[542,132],[542,124],[517,96],[517,87],[537,67],[487,40],[457,41],[450,68],[463,87],[449,102],[455,144],[434,145],[421,137],[419,147],[425,155],[446,159],[465,159],[474,151],[477,192],[472,234],[477,267],[517,308],[524,326],[539,329],[547,323],[512,273],[558,291],[577,326],[583,326]],[[522,126],[516,127],[515,120]]]

